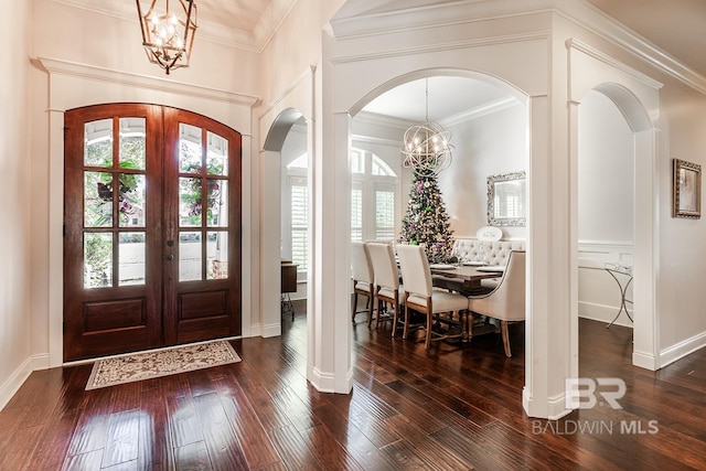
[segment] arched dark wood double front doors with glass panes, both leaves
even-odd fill
[[[140,104],[64,122],[64,360],[238,335],[240,135]]]

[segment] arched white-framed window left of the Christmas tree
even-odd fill
[[[351,240],[395,238],[397,175],[373,152],[351,150]]]

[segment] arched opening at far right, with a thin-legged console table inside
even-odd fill
[[[633,364],[656,370],[652,121],[627,88],[603,83],[582,97],[577,136],[575,312],[608,329],[632,328],[627,354]]]

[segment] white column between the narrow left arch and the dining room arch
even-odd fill
[[[350,296],[350,116],[333,113],[323,94],[321,122],[317,122],[313,197],[313,274],[308,311],[311,370],[308,377],[321,392],[347,394],[353,388],[351,368]],[[329,98],[327,100],[327,98]],[[320,129],[320,131],[319,131]],[[320,143],[320,146],[319,146]]]

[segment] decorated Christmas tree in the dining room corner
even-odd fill
[[[407,213],[402,220],[399,242],[425,244],[427,258],[438,264],[451,258],[452,234],[436,175],[415,175],[409,189]]]

